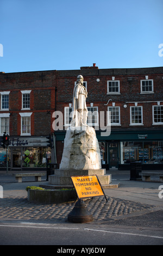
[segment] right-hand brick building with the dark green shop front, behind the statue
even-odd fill
[[[96,134],[102,166],[127,169],[131,161],[139,161],[144,169],[162,168],[163,68],[98,69],[93,65],[57,71],[56,109],[64,113],[64,130],[71,121],[68,116],[79,74],[83,75],[88,92],[87,108],[95,113],[88,121],[99,126]],[[105,113],[104,120],[100,120],[101,112]],[[109,112],[111,134],[101,136]],[[64,147],[64,130],[55,131],[58,163]]]

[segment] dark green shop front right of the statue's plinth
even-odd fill
[[[101,137],[100,133],[97,133],[97,138],[99,148],[103,151],[103,168],[127,170],[130,169],[130,163],[136,161],[142,163],[142,169],[163,169],[161,131],[112,131],[108,137]]]

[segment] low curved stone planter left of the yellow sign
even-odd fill
[[[76,199],[76,190],[28,190],[28,201],[31,203],[57,204]]]

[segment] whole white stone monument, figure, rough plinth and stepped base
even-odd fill
[[[111,181],[110,175],[105,175],[106,170],[101,166],[95,129],[86,124],[86,97],[83,76],[79,75],[73,90],[73,120],[66,130],[60,167],[54,175],[49,175],[49,184],[72,186],[71,176],[74,175],[98,175],[101,185],[108,185]]]

